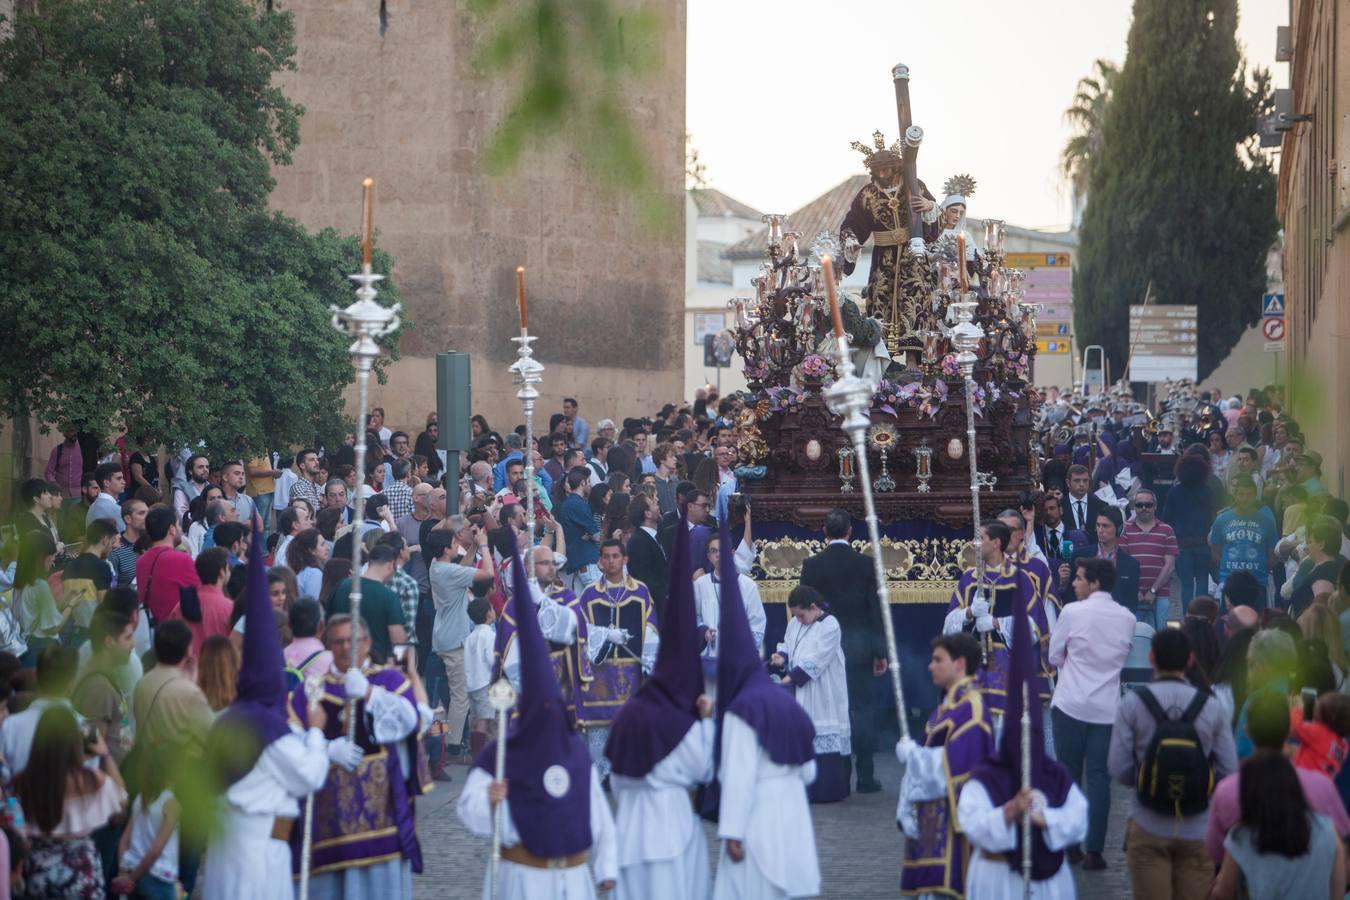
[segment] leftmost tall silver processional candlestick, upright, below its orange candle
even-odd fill
[[[381,337],[392,335],[398,329],[398,313],[401,304],[381,306],[375,302],[375,283],[385,279],[370,269],[370,262],[360,266],[360,274],[352,275],[356,282],[356,302],[346,309],[331,306],[333,328],[352,339],[347,352],[356,363],[356,472],[358,478],[366,475],[366,403],[370,390],[370,370],[379,359]],[[366,495],[356,487],[356,513],[351,540],[351,621],[352,621],[352,657],[351,668],[359,669],[362,660],[356,658],[356,641],[360,630],[360,524],[366,521]],[[347,715],[347,738],[356,739],[355,700],[347,699],[350,711]]]

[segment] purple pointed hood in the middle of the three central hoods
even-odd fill
[[[645,777],[698,722],[698,698],[703,694],[702,641],[694,611],[694,582],[686,575],[688,545],[688,525],[682,514],[670,559],[671,587],[656,665],[614,716],[605,743],[605,756],[617,775]]]

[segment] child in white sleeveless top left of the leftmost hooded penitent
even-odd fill
[[[171,900],[178,896],[178,801],[166,784],[173,766],[140,754],[140,789],[131,803],[127,828],[117,845],[119,873],[113,896]]]

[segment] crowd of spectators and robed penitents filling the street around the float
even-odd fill
[[[1112,783],[1135,793],[1137,896],[1343,885],[1347,507],[1277,395],[1216,397],[1169,397],[1153,426],[1123,401],[1045,398],[1064,414],[1042,490],[981,525],[933,641],[941,703],[896,748],[905,893],[1002,896],[1027,819],[1037,896],[1071,896],[1069,866],[1107,865]],[[412,437],[373,410],[362,471],[354,436],[165,457],[65,433],[0,557],[15,896],[290,896],[305,830],[321,896],[410,896],[416,796],[454,764],[471,831],[510,808],[505,896],[818,892],[814,853],[767,850],[764,830],[810,838],[807,803],[883,789],[890,661],[845,510],[767,645],[741,403],[703,390],[591,426],[568,399],[533,447],[475,416],[458,472],[435,414]],[[526,565],[539,590],[516,590]],[[506,735],[501,677],[521,698]],[[716,877],[690,789],[718,820]],[[194,791],[223,827],[189,827]],[[585,841],[558,834],[587,820]]]

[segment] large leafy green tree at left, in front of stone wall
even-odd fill
[[[0,45],[0,402],[150,443],[332,439],[358,240],[267,209],[302,109],[246,0],[45,0]],[[352,185],[354,200],[360,186]],[[387,256],[377,269],[389,270]],[[386,302],[397,291],[385,282]]]

